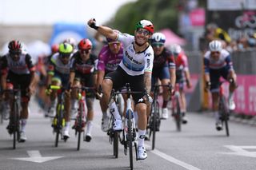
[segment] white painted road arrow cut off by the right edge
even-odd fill
[[[246,149],[255,149],[256,146],[235,146],[235,145],[226,145],[226,148],[229,148],[234,152],[219,152],[221,154],[226,155],[234,155],[234,156],[247,156],[247,157],[256,157],[256,152],[250,152]]]

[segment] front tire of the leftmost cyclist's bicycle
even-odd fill
[[[14,102],[14,117],[13,117],[13,124],[14,124],[14,132],[13,132],[13,148],[16,148],[16,143],[19,140],[19,119],[18,119],[18,103]]]

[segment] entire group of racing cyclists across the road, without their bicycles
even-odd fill
[[[148,20],[139,21],[134,28],[134,35],[122,34],[107,26],[98,26],[94,18],[87,22],[88,26],[106,37],[107,44],[102,47],[98,57],[92,53],[93,44],[84,38],[78,44],[70,38],[53,46],[54,53],[47,57],[46,79],[43,83],[48,101],[50,103],[48,115],[54,117],[58,103],[57,91],[50,89],[50,85],[61,85],[65,92],[65,126],[62,135],[64,139],[70,137],[70,118],[77,113],[78,89],[75,87],[86,86],[86,132],[85,141],[92,139],[92,121],[94,118],[94,100],[98,97],[102,109],[102,131],[108,130],[108,109],[114,117],[114,131],[122,130],[122,113],[118,113],[117,105],[110,101],[112,89],[122,89],[130,83],[131,91],[145,91],[134,93],[134,110],[138,115],[138,160],[147,157],[144,144],[147,120],[150,115],[150,96],[153,96],[155,81],[162,85],[171,85],[171,90],[162,88],[162,118],[168,118],[167,104],[170,96],[174,94],[175,84],[179,84],[181,93],[182,123],[186,124],[186,98],[184,85],[191,87],[190,71],[186,53],[180,45],[174,44],[166,48],[166,37],[162,33],[154,33],[154,25]],[[28,104],[31,95],[38,83],[36,67],[31,56],[22,50],[22,43],[14,40],[8,45],[9,52],[1,57],[1,98],[12,101],[6,89],[20,88],[21,91],[21,136],[26,141],[26,121],[28,119]],[[209,44],[209,51],[204,57],[206,89],[213,93],[213,109],[216,117],[216,128],[222,129],[218,115],[218,80],[224,77],[232,79],[230,83],[229,104],[234,109],[234,89],[236,87],[236,74],[230,61],[230,53],[222,49],[222,42],[214,40]],[[125,97],[124,97],[125,98]],[[13,116],[10,107],[10,117]],[[11,119],[10,119],[11,120]],[[8,132],[13,132],[13,122],[7,126]]]

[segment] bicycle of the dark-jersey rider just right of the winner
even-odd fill
[[[158,85],[158,81],[155,81],[155,85],[153,87],[154,89],[154,97],[153,97],[153,102],[151,105],[151,112],[150,112],[150,117],[148,121],[148,127],[150,128],[150,135],[152,134],[152,150],[154,150],[155,146],[155,133],[159,131],[159,127],[161,124],[160,120],[160,107],[158,103],[158,95],[159,95],[159,89],[160,87],[168,87],[169,91],[171,92],[171,85]]]

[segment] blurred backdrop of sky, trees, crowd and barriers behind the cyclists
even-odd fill
[[[0,54],[12,39],[25,43],[33,57],[49,55],[50,46],[66,38],[90,38],[98,55],[103,38],[86,26],[90,18],[123,33],[134,34],[142,19],[166,35],[166,45],[185,49],[194,88],[188,90],[190,110],[210,108],[202,91],[202,56],[208,42],[222,39],[232,53],[238,73],[236,113],[256,115],[256,1],[255,0],[0,0]],[[190,101],[194,97],[198,100]],[[195,102],[200,101],[200,102]]]

